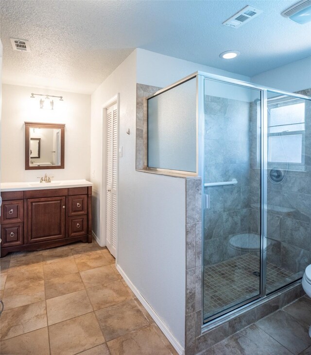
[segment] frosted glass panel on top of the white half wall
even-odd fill
[[[148,167],[196,171],[196,78],[148,100]]]

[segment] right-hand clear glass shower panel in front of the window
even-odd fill
[[[311,101],[267,92],[267,294],[310,264]]]

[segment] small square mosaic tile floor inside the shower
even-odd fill
[[[292,272],[267,262],[267,292],[284,285]],[[204,318],[259,294],[260,258],[243,254],[204,268]]]

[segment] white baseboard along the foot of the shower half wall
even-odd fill
[[[165,337],[169,340],[169,342],[173,345],[174,349],[179,355],[184,355],[185,354],[185,349],[181,346],[179,341],[173,336],[171,333],[170,329],[167,327],[167,325],[161,320],[161,318],[157,315],[155,310],[151,307],[151,305],[144,299],[144,297],[141,295],[141,293],[138,291],[138,289],[132,284],[131,280],[126,276],[125,272],[119,266],[118,264],[116,265],[117,270],[120,272],[121,276],[127,283],[128,287],[133,291],[135,296],[138,298],[140,303],[146,308],[147,312],[150,314],[152,319],[155,321],[156,325],[161,329],[162,333],[165,335]]]

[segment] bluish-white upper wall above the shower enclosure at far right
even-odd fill
[[[251,78],[252,83],[284,91],[299,91],[311,87],[311,57],[286,66],[265,71]]]

